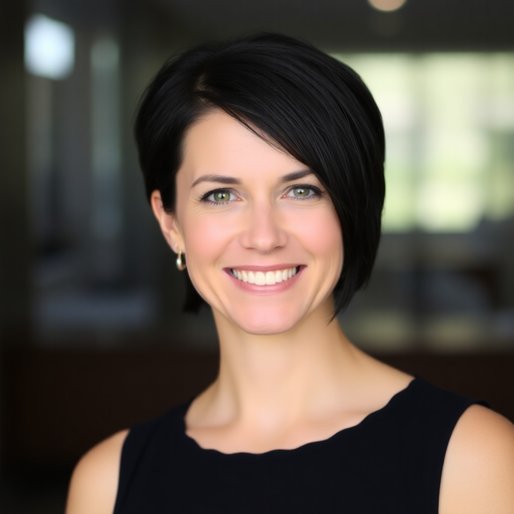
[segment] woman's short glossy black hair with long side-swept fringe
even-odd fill
[[[204,44],[171,58],[146,89],[135,125],[146,194],[159,190],[169,212],[185,133],[216,108],[276,142],[326,188],[343,234],[338,313],[368,282],[380,240],[385,144],[370,91],[350,67],[279,34]],[[201,302],[188,280],[185,310]]]

